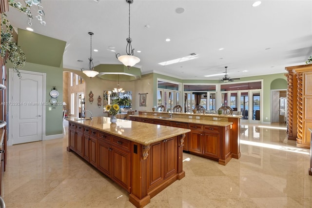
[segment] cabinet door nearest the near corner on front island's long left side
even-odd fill
[[[130,192],[130,152],[113,146],[112,157],[112,180]]]

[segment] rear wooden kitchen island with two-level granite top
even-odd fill
[[[172,113],[139,111],[130,120],[150,124],[188,128],[183,151],[216,160],[226,165],[232,158],[240,157],[239,116],[214,114]]]

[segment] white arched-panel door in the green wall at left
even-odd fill
[[[42,140],[43,81],[39,73],[10,73],[9,114],[12,145]],[[44,87],[45,88],[45,87]]]

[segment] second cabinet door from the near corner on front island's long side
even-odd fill
[[[109,144],[98,141],[98,169],[111,177],[111,151]]]

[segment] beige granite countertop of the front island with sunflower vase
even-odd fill
[[[75,121],[74,118],[68,118],[67,121],[79,125],[91,127],[104,133],[115,135],[142,145],[168,139],[174,136],[185,134],[190,129],[176,128],[165,125],[154,125],[143,122],[132,122],[128,120],[117,119],[116,124],[111,124],[109,117],[94,117],[93,120]]]

